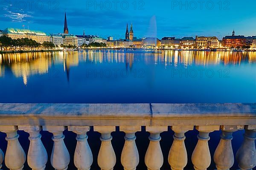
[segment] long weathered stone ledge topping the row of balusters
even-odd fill
[[[256,125],[256,104],[0,104],[0,125]]]

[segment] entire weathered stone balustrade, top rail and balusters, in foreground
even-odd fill
[[[145,156],[139,157],[135,133],[142,126],[150,133],[150,142]],[[0,104],[0,132],[6,133],[7,141],[6,153],[0,150],[0,168],[4,161],[10,170],[22,170],[27,161],[32,170],[44,170],[48,155],[40,131],[45,130],[52,133],[50,161],[55,170],[67,170],[70,161],[78,170],[90,170],[96,158],[87,142],[87,132],[93,129],[101,133],[97,163],[101,170],[113,170],[116,154],[111,133],[116,127],[125,132],[121,154],[124,170],[135,170],[143,159],[148,170],[160,170],[164,159],[172,170],[183,170],[188,159],[195,170],[206,170],[211,161],[218,170],[229,170],[235,159],[241,170],[256,166],[256,104]],[[160,140],[168,127],[174,131],[174,141],[165,158]],[[198,130],[198,143],[189,158],[184,140],[185,133],[193,129]],[[20,145],[17,130],[29,133],[28,153]],[[63,140],[64,130],[77,135],[73,160]],[[209,133],[216,130],[221,130],[221,136],[211,160]],[[231,140],[238,130],[244,130],[244,138],[234,154]]]

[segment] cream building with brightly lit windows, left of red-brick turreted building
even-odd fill
[[[218,48],[219,40],[217,37],[198,37],[195,38],[196,48]]]

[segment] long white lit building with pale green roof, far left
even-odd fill
[[[51,35],[43,31],[35,31],[29,29],[19,28],[6,28],[2,31],[2,35],[10,37],[12,39],[28,38],[35,40],[36,42],[43,43],[45,41],[51,41]]]

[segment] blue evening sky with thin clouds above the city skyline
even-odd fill
[[[256,35],[255,0],[1,0],[0,29],[6,27],[62,33],[64,11],[70,34],[124,38],[205,35]]]

